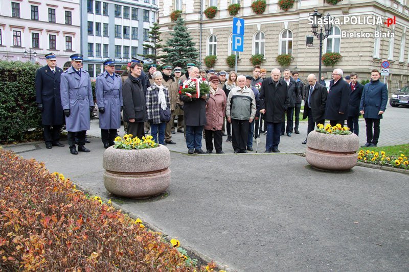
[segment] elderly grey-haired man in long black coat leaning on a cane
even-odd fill
[[[271,78],[263,80],[260,88],[260,113],[264,114],[264,126],[267,126],[265,153],[280,152],[281,123],[290,105],[287,83],[280,77],[281,71],[272,69]]]

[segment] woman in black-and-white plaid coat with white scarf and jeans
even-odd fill
[[[155,142],[166,145],[165,129],[166,122],[161,121],[159,108],[165,110],[170,109],[169,91],[162,84],[162,73],[157,71],[152,76],[153,85],[146,91],[146,108],[148,113],[148,121],[150,123],[151,135]],[[159,134],[159,137],[157,137]],[[159,139],[159,141],[157,141]]]

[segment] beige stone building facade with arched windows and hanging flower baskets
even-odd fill
[[[319,41],[314,37],[314,46],[306,46],[306,36],[313,35],[308,17],[317,9],[323,15],[330,13],[340,20],[324,40],[323,54],[336,52],[343,58],[335,67],[322,66],[326,79],[331,78],[333,68],[343,69],[345,75],[357,72],[359,80],[369,79],[370,71],[374,68],[380,70],[382,61],[388,60],[390,73],[386,80],[389,90],[409,83],[409,0],[343,0],[336,5],[324,0],[296,0],[287,11],[281,10],[278,2],[266,0],[264,13],[256,14],[251,8],[252,0],[161,0],[162,38],[166,41],[172,30],[171,12],[181,10],[199,51],[200,61],[203,63],[206,56],[216,55],[216,70],[234,69],[225,61],[234,53],[231,50],[233,16],[229,14],[228,7],[240,4],[235,17],[245,19],[245,29],[244,52],[239,55],[238,71],[251,73],[253,65],[249,58],[262,54],[264,62],[261,66],[267,69],[267,75],[272,68],[289,68],[298,70],[305,79],[309,73],[318,75]],[[203,14],[210,6],[218,8],[212,19]],[[390,25],[386,24],[388,18],[392,20]],[[292,56],[288,67],[281,67],[277,62],[276,58],[281,54]]]

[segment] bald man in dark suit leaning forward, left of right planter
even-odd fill
[[[316,82],[316,77],[313,73],[308,76],[307,81],[309,85],[305,88],[303,119],[308,117],[308,137],[308,134],[314,130],[315,124],[318,125],[322,123],[324,125],[324,113],[328,92],[324,85]],[[302,143],[306,144],[307,139]]]

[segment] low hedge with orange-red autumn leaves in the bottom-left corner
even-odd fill
[[[0,172],[0,267],[6,271],[206,271],[179,244],[110,201],[88,197],[43,163],[0,149]]]

